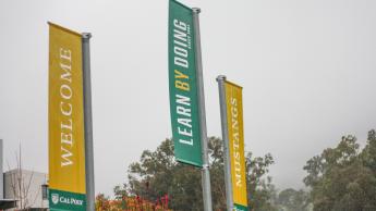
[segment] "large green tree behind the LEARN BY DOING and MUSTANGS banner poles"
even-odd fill
[[[222,141],[210,137],[208,148],[214,210],[226,210]],[[264,158],[246,154],[248,206],[254,210],[275,210],[270,202],[275,191],[271,179],[263,178],[272,163],[270,154]],[[172,210],[202,210],[201,181],[201,170],[177,162],[172,140],[166,139],[156,151],[145,150],[140,162],[130,165],[128,191],[148,200],[168,195]]]

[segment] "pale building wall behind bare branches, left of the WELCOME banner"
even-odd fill
[[[19,181],[21,181],[21,194]],[[19,208],[21,208],[21,202],[23,207],[47,208],[48,200],[43,199],[41,193],[41,185],[46,183],[47,175],[44,173],[11,170],[4,173],[4,197],[19,200]]]

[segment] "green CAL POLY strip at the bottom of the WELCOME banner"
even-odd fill
[[[86,211],[86,195],[49,189],[51,211]]]

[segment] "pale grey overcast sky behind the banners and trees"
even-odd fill
[[[376,127],[376,1],[184,0],[201,13],[207,127],[220,136],[219,74],[244,87],[245,147],[270,152],[278,188],[342,135]],[[171,137],[167,0],[1,0],[4,160],[48,171],[48,24],[90,32],[96,191]]]

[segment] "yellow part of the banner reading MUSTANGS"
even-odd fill
[[[247,207],[242,87],[225,83],[233,202]]]

